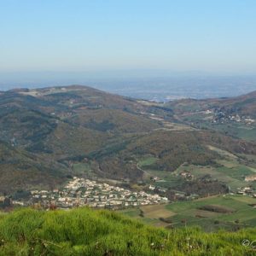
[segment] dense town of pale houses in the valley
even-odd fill
[[[7,197],[2,198],[3,200],[7,200]],[[166,202],[168,202],[166,197],[157,194],[148,194],[144,191],[134,192],[108,183],[73,177],[63,189],[32,190],[28,199],[13,200],[11,204],[20,207],[39,205],[44,208],[59,209],[84,206],[120,209]]]

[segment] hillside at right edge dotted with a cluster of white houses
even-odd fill
[[[174,101],[165,108],[183,124],[256,140],[256,91],[233,98]]]

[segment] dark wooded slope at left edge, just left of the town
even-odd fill
[[[65,180],[67,173],[67,166],[0,142],[1,194],[41,186],[53,189]]]

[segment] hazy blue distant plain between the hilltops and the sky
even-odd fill
[[[240,96],[256,89],[253,75],[207,75],[205,73],[172,73],[138,70],[104,73],[24,73],[2,74],[1,90],[43,88],[65,84],[85,84],[121,96],[154,102],[181,98],[215,98]],[[15,77],[19,80],[15,81]],[[6,78],[6,79],[5,79]],[[6,82],[4,82],[6,81]]]

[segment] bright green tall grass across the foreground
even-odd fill
[[[255,255],[256,229],[156,229],[117,212],[22,209],[0,218],[0,255]]]

